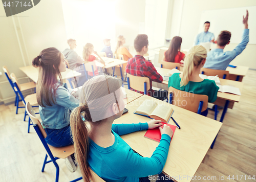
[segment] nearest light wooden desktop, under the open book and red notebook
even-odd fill
[[[133,113],[145,99],[154,100],[174,109],[173,117],[181,129],[176,128],[175,130],[163,172],[174,178],[176,177],[176,181],[190,181],[189,177],[195,175],[222,123],[146,95],[128,103],[125,108],[129,111],[115,120],[114,123],[144,123],[150,121],[151,119],[147,117]],[[175,125],[172,120],[169,121],[169,124]],[[159,143],[143,137],[145,132],[145,130],[137,131],[122,135],[121,138],[140,155],[151,157]],[[179,176],[184,175],[186,177],[179,180]]]

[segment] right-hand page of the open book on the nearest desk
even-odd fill
[[[170,118],[170,115],[172,114],[173,112],[173,108],[172,107],[168,107],[168,106],[164,106],[164,105],[158,105],[155,110],[151,113],[151,118],[154,118],[154,119],[158,119],[154,116],[157,116],[159,117],[159,119],[161,118],[164,122],[168,122],[169,118]],[[154,116],[153,116],[154,115]]]

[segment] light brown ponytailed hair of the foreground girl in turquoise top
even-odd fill
[[[122,86],[122,80],[112,76],[99,75],[83,84],[79,95],[80,106],[73,109],[70,127],[75,147],[76,161],[84,181],[90,181],[91,172],[88,164],[89,129],[86,122],[102,122],[107,109],[117,103],[120,93],[115,92]],[[113,97],[114,96],[114,97]],[[119,106],[118,106],[119,107]],[[89,110],[90,108],[90,110]],[[120,108],[119,108],[120,111]]]

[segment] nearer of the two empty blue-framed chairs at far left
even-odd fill
[[[12,82],[14,84],[13,88],[14,88],[15,92],[17,92],[19,97],[22,99],[23,104],[26,105],[27,102],[30,102],[33,105],[33,107],[38,107],[38,103],[37,103],[37,100],[36,100],[36,94],[30,94],[30,95],[28,95],[28,96],[26,96],[24,98],[22,92],[20,91],[20,87],[19,87],[19,84],[18,84],[16,76],[14,75],[14,73],[11,73],[10,76],[11,76]],[[37,105],[37,106],[34,106],[34,105]],[[26,116],[27,115],[28,115],[27,111],[25,110],[24,121],[26,120]],[[28,122],[28,133],[29,133],[30,125],[32,125],[32,124],[31,124],[30,119],[29,119],[29,122]]]

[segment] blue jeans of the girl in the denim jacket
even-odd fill
[[[46,142],[53,147],[64,147],[73,144],[70,125],[61,129],[45,128]]]

